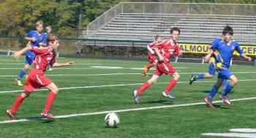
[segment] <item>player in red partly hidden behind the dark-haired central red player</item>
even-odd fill
[[[154,46],[155,44],[159,44],[159,42],[162,41],[162,37],[161,36],[156,36],[154,38],[154,42],[152,42],[151,44],[147,45],[147,49],[148,49],[148,65],[144,66],[144,70],[143,72],[140,74],[141,76],[148,76],[148,70],[152,67],[154,67],[155,65],[157,65],[157,57],[156,57],[156,53],[154,52],[154,50],[152,49],[152,46]]]

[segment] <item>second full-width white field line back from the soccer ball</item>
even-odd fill
[[[256,81],[256,79],[246,79],[246,80],[239,80],[239,81]],[[195,81],[194,83],[213,83],[216,81]],[[178,84],[189,84],[189,81],[180,81]],[[169,82],[162,82],[157,84],[169,84]],[[102,87],[112,87],[112,86],[137,86],[142,84],[113,84],[113,85],[99,85],[99,86],[74,86],[74,87],[64,87],[59,88],[59,90],[66,90],[66,89],[89,89],[89,88],[102,88]],[[48,89],[35,89],[34,91],[48,91]],[[13,91],[1,91],[0,94],[3,93],[13,93],[13,92],[24,92],[24,90],[13,90]]]

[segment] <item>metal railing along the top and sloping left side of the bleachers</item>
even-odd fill
[[[86,34],[97,31],[122,13],[154,13],[184,15],[256,15],[256,4],[121,2],[87,25]]]

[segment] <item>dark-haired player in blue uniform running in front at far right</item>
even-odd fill
[[[227,25],[223,31],[222,35],[225,36],[224,41],[219,41],[219,44],[213,46],[212,49],[217,49],[218,53],[214,53],[217,72],[218,72],[218,79],[217,83],[212,87],[211,92],[208,94],[207,97],[204,98],[205,102],[207,103],[208,107],[214,107],[212,104],[212,98],[218,92],[220,86],[222,86],[223,79],[230,79],[225,86],[224,92],[219,95],[219,98],[223,100],[223,102],[227,105],[230,105],[230,100],[227,99],[227,94],[233,89],[234,86],[238,83],[238,78],[233,75],[232,72],[229,70],[230,60],[233,57],[233,52],[236,50],[241,57],[244,57],[248,61],[252,61],[251,57],[247,57],[244,52],[241,50],[238,42],[233,41],[233,28]]]

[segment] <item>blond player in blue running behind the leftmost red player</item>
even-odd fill
[[[25,36],[25,40],[29,41],[29,45],[31,46],[46,46],[46,35],[45,33],[42,33],[43,28],[43,22],[42,20],[37,21],[36,25],[36,31],[30,31]],[[25,65],[22,70],[20,70],[19,75],[15,78],[15,84],[18,84],[19,86],[23,86],[20,79],[23,78],[23,76],[26,74],[26,71],[29,70],[30,65],[33,63],[35,54],[34,52],[28,51],[25,53],[26,59],[25,59]]]

